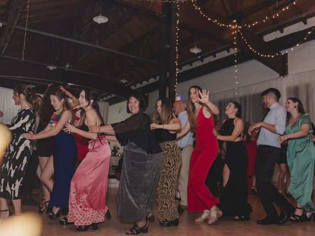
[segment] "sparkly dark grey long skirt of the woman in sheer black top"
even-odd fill
[[[162,152],[148,154],[131,142],[125,146],[117,197],[121,220],[144,221],[153,211],[162,159]]]

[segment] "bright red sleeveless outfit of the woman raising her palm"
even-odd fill
[[[189,179],[187,188],[188,211],[206,210],[219,203],[210,192],[205,181],[218,156],[219,144],[212,133],[213,116],[206,118],[200,108],[196,118],[196,145],[193,148],[189,163]]]

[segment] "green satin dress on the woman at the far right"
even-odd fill
[[[297,139],[290,139],[287,146],[287,165],[291,174],[288,188],[290,194],[307,212],[315,212],[311,196],[313,191],[315,146],[311,140],[312,126],[309,114],[300,114],[290,126],[287,124],[285,134],[301,130],[302,124],[309,124],[309,134]]]

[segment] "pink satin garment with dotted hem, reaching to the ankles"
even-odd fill
[[[111,151],[105,136],[89,142],[89,152],[71,180],[68,222],[76,226],[105,220]]]

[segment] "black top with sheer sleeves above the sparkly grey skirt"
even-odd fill
[[[122,146],[128,142],[136,144],[149,154],[161,152],[158,141],[150,128],[151,119],[143,112],[132,115],[119,123],[112,124],[117,140]]]

